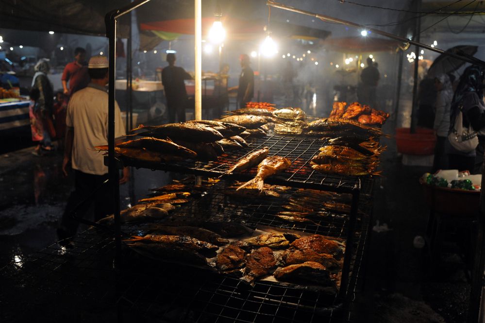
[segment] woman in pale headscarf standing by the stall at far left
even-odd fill
[[[39,97],[35,100],[35,109],[39,111],[43,125],[43,139],[40,141],[35,152],[40,149],[50,151],[53,149],[51,138],[55,136],[54,123],[52,120],[52,109],[54,106],[54,90],[50,84],[47,73],[49,73],[49,62],[41,59],[34,67],[35,74],[32,79],[32,89],[39,91]]]

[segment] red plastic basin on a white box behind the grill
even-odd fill
[[[396,146],[398,152],[410,155],[432,155],[436,137],[432,129],[417,128],[411,134],[410,128],[396,128]]]

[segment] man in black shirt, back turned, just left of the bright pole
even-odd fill
[[[175,115],[177,115],[178,122],[185,122],[187,90],[184,80],[192,79],[184,68],[175,66],[175,61],[175,54],[167,54],[168,66],[162,70],[162,84],[167,99],[168,122],[170,123],[175,122]]]

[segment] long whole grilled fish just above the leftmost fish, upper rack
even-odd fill
[[[136,128],[148,129],[139,133],[138,136],[151,136],[160,139],[180,139],[192,142],[214,142],[224,138],[220,132],[205,124],[200,123],[168,123],[160,126],[143,126]]]

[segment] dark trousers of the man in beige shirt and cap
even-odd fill
[[[101,187],[102,183],[108,179],[108,174],[93,175],[79,170],[74,172],[74,191],[67,199],[60,226],[66,237],[74,236],[79,226],[79,222],[71,217],[73,210],[76,209],[77,218],[84,218],[94,203],[94,221],[114,213],[112,189],[108,184]],[[79,204],[81,205],[76,208]]]

